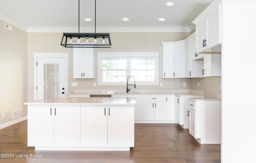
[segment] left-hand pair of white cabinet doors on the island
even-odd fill
[[[28,105],[28,117],[28,146],[80,146],[80,106]]]

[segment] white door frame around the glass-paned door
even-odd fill
[[[68,90],[68,53],[34,53],[34,100],[37,99],[37,58],[64,58],[65,59],[65,88]],[[65,93],[65,97],[68,97]]]

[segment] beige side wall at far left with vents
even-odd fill
[[[11,25],[11,24],[10,24]],[[12,120],[12,110],[27,115],[27,32],[12,26],[4,28],[0,20],[0,125]],[[2,118],[2,113],[5,117]]]

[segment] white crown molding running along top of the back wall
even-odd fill
[[[80,33],[94,33],[94,27],[80,27]],[[78,32],[78,27],[29,27],[28,32]],[[190,32],[187,26],[106,26],[96,32]]]

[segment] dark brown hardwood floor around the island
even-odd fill
[[[131,151],[35,151],[22,121],[0,130],[0,154],[14,154],[0,163],[220,163],[220,144],[200,144],[178,124],[136,123]]]

